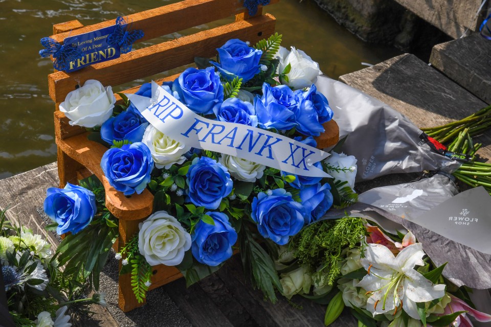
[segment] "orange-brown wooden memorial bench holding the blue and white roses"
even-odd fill
[[[271,0],[270,4],[279,0]],[[174,40],[138,49],[121,57],[86,66],[72,73],[58,72],[48,75],[51,99],[56,103],[55,139],[58,147],[58,174],[60,187],[67,182],[77,183],[81,177],[95,174],[104,185],[106,207],[111,214],[119,219],[119,238],[115,249],[126,244],[138,232],[138,225],[152,213],[153,195],[145,190],[142,194],[125,197],[116,191],[105,178],[100,162],[107,148],[89,141],[87,132],[79,126],[71,126],[65,115],[59,111],[59,104],[66,95],[86,80],[96,79],[103,85],[113,87],[146,78],[155,74],[181,67],[194,61],[194,57],[212,57],[216,48],[232,38],[248,40],[252,44],[267,38],[274,33],[275,17],[262,14],[262,8],[254,17],[250,17],[247,9],[242,7],[242,0],[185,0],[156,9],[128,15],[132,29],[141,29],[145,36],[137,42],[182,31],[208,22],[235,15],[231,24],[183,36]],[[83,26],[78,20],[72,20],[53,26],[51,37],[62,42],[65,37],[95,31],[115,24],[115,20],[100,22],[91,26]],[[158,80],[173,81],[176,76]],[[123,93],[135,93],[139,86],[132,87]],[[119,103],[121,97],[115,95]],[[326,123],[326,133],[317,138],[320,148],[338,142],[339,129],[336,122]],[[121,261],[120,261],[121,268]],[[182,277],[175,267],[158,265],[152,267],[153,275],[149,290]],[[119,306],[124,312],[131,311],[144,303],[138,303],[131,289],[129,273],[119,276]]]

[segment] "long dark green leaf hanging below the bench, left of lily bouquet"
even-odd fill
[[[245,276],[250,278],[254,288],[259,288],[267,299],[275,303],[277,301],[275,288],[279,291],[283,291],[283,288],[273,260],[247,228],[242,228],[239,237]]]

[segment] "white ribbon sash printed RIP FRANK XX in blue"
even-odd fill
[[[287,173],[331,177],[314,166],[327,152],[289,137],[242,124],[203,118],[152,81],[152,98],[126,94],[145,119],[175,141],[233,155]]]

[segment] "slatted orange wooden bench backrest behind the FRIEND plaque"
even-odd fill
[[[279,0],[271,0],[271,4]],[[62,102],[66,95],[88,79],[96,79],[104,86],[117,86],[136,79],[159,74],[194,61],[194,57],[212,57],[219,48],[232,38],[250,41],[269,37],[275,29],[275,18],[262,15],[261,8],[254,17],[249,17],[243,0],[185,0],[164,7],[125,16],[132,29],[141,29],[145,36],[137,42],[182,31],[217,19],[236,16],[232,24],[183,36],[167,42],[147,46],[121,57],[86,66],[72,73],[55,72],[48,76],[50,97],[55,103]],[[54,27],[51,37],[62,42],[65,37],[95,31],[115,24],[115,19],[81,27],[68,22]],[[79,27],[76,30],[73,28]]]

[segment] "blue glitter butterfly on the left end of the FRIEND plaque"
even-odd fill
[[[41,57],[53,56],[55,61],[53,61],[53,67],[58,69],[58,71],[65,71],[68,69],[71,61],[81,59],[83,53],[74,44],[60,44],[51,37],[43,37],[41,39],[41,44],[44,46],[43,50],[39,51]]]

